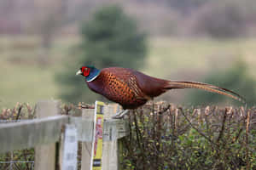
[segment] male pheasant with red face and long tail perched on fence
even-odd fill
[[[128,68],[109,67],[100,71],[94,66],[82,66],[76,75],[85,77],[85,82],[92,91],[119,103],[124,110],[136,109],[148,100],[176,88],[199,88],[245,102],[245,99],[239,94],[226,88],[219,88],[203,82],[164,80]]]

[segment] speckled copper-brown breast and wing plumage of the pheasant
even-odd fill
[[[137,108],[151,99],[150,96],[143,94],[137,77],[130,69],[103,69],[93,82],[87,84],[91,90],[119,103],[124,109]]]

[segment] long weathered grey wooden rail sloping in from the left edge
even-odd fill
[[[32,148],[56,142],[67,116],[51,116],[24,122],[0,124],[0,152]]]

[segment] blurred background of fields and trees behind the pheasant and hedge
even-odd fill
[[[1,0],[0,109],[39,99],[102,99],[75,77],[81,65],[213,83],[253,105],[255,16],[254,0]],[[192,89],[158,99],[234,102]]]

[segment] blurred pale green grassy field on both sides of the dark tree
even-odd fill
[[[224,69],[242,58],[256,77],[256,39],[154,37],[148,43],[148,59],[140,70],[152,76],[197,81],[208,71]],[[70,48],[77,44],[77,37],[56,39],[44,67],[38,64],[38,56],[44,54],[37,37],[1,37],[0,109],[16,102],[57,99],[60,89],[55,84],[55,72],[61,70],[67,57],[72,57]]]

